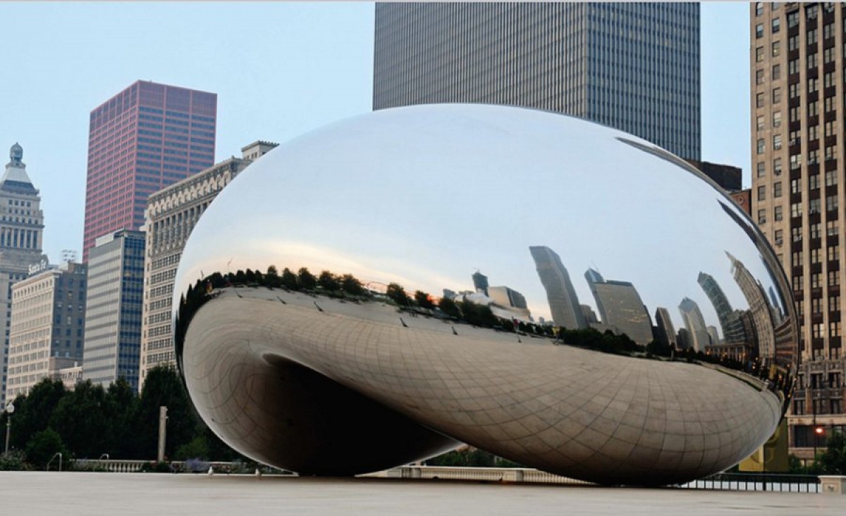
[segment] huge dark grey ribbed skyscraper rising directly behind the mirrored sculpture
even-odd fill
[[[700,159],[698,3],[376,3],[373,109],[526,106]]]

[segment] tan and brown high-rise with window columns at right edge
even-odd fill
[[[802,459],[846,427],[844,17],[843,3],[750,3],[752,215],[794,289],[802,364],[788,427]]]

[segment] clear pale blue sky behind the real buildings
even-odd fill
[[[748,186],[749,7],[701,12],[702,159]],[[52,262],[81,252],[89,113],[135,80],[217,93],[217,161],[371,110],[372,3],[0,2],[0,23],[0,163],[24,147]]]

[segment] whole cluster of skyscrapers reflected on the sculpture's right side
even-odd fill
[[[722,286],[706,271],[700,271],[696,283],[705,294],[717,315],[709,323],[700,305],[691,296],[684,296],[678,304],[682,327],[675,330],[666,307],[655,308],[655,326],[634,284],[624,280],[606,280],[596,269],[585,271],[585,281],[593,295],[596,312],[591,305],[580,303],[569,270],[550,247],[532,246],[530,253],[544,290],[553,322],[565,329],[593,328],[600,332],[611,330],[626,334],[639,345],[652,340],[673,345],[679,350],[691,349],[743,360],[745,356],[772,358],[776,349],[774,324],[782,312],[766,295],[764,286],[755,280],[744,264],[726,252],[730,274],[743,295],[747,309],[732,306]]]

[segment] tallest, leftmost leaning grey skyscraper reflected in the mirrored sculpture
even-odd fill
[[[558,254],[546,246],[531,246],[529,251],[541,285],[547,291],[552,321],[566,329],[587,328],[570,274]]]

